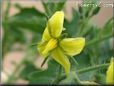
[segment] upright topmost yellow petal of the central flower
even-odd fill
[[[53,37],[59,37],[63,29],[64,12],[57,11],[49,20],[49,28]]]

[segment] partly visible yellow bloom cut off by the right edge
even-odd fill
[[[114,84],[114,58],[111,58],[110,65],[106,72],[106,83]]]

